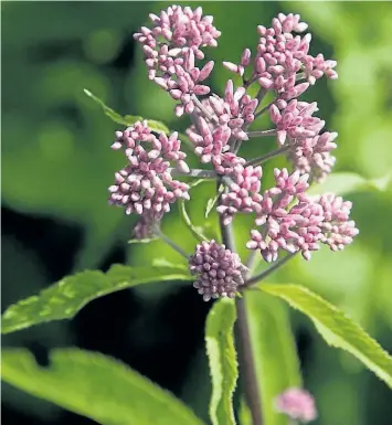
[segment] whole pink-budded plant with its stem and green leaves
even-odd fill
[[[338,135],[317,116],[317,103],[300,96],[311,93],[318,79],[336,79],[338,74],[335,61],[311,52],[307,26],[292,13],[279,13],[268,28],[258,25],[257,44],[244,49],[237,63],[222,64],[233,79],[213,93],[208,81],[216,64],[208,60],[208,50],[219,49],[221,36],[213,18],[203,15],[201,8],[179,6],[150,14],[150,25],[134,36],[151,84],[176,100],[178,117],[190,118],[186,135],[155,120],[123,117],[86,94],[123,125],[112,149],[123,156],[124,168],[115,172],[109,203],[138,216],[133,242],[161,238],[184,257],[187,267],[114,265],[105,274],[85,270],[64,277],[10,306],[2,316],[2,333],[70,319],[91,300],[116,290],[183,280],[193,285],[194,296],[199,293],[206,302],[215,299],[205,325],[213,425],[295,424],[317,417],[315,400],[303,389],[284,301],[308,316],[328,344],[348,351],[392,386],[391,355],[342,311],[297,284],[265,281],[294,256],[310,261],[321,245],[341,251],[358,234],[350,220],[351,202],[339,193],[309,191],[328,180]],[[271,126],[255,129],[265,116]],[[262,145],[266,138],[276,140],[275,149],[255,158],[243,156],[246,144]],[[189,164],[191,156],[198,159],[197,168]],[[278,156],[286,157],[288,166],[276,168],[274,183],[266,187],[264,166]],[[187,210],[193,189],[211,182],[216,190],[205,216],[218,212],[215,238],[206,237]],[[161,230],[173,204],[189,236],[199,241],[193,252]],[[234,232],[242,214],[253,223],[244,258]],[[28,351],[3,350],[2,379],[105,425],[202,424],[173,395],[98,353],[57,349],[51,352],[50,366],[41,368]],[[241,400],[236,410],[235,392]]]

